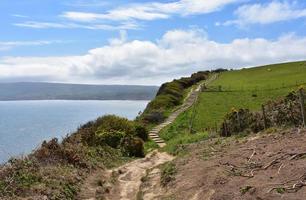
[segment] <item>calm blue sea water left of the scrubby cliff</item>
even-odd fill
[[[0,101],[0,163],[105,114],[134,119],[147,101]]]

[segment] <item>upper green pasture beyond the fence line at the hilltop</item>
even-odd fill
[[[306,62],[293,62],[222,73],[212,86],[262,90],[306,83]]]

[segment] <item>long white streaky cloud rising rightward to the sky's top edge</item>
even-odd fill
[[[171,3],[131,4],[109,10],[106,13],[65,12],[62,17],[69,20],[92,22],[97,20],[127,21],[166,19],[172,15],[195,15],[211,13],[241,0],[180,0]]]

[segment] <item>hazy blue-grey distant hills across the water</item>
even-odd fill
[[[151,100],[157,86],[0,83],[0,101],[9,100]]]

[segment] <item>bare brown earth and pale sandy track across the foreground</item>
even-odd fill
[[[173,157],[155,151],[87,184],[87,198],[137,200],[305,200],[306,130],[289,129],[244,138],[215,138],[189,145],[172,162],[175,180],[161,186],[159,165]],[[103,173],[97,173],[103,174]],[[115,175],[114,175],[115,174]],[[110,181],[111,180],[111,181]],[[113,181],[112,181],[113,180]],[[90,189],[90,190],[88,190]]]

